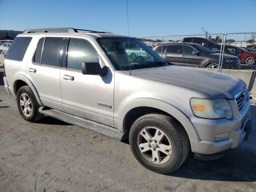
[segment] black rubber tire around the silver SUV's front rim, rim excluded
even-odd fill
[[[148,126],[154,126],[164,132],[172,145],[170,159],[163,164],[154,164],[147,160],[138,147],[138,135],[142,129]],[[168,174],[178,169],[190,151],[190,141],[182,125],[176,119],[163,114],[147,114],[138,118],[130,130],[129,142],[138,162],[147,169],[160,174]]]

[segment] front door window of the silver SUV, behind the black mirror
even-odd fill
[[[100,62],[100,56],[90,42],[70,38],[68,44],[67,68],[82,70],[82,62]]]

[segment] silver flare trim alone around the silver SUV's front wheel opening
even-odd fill
[[[130,110],[136,107],[152,107],[170,114],[171,116],[176,118],[176,120],[181,122],[183,126],[185,125],[184,128],[188,133],[190,140],[198,140],[198,134],[194,129],[194,127],[186,126],[186,124],[184,124],[184,122],[186,121],[183,121],[183,120],[186,120],[189,118],[184,112],[182,112],[180,109],[176,108],[175,106],[173,106],[168,102],[164,102],[162,100],[158,100],[154,98],[137,98],[125,104],[120,110],[120,112],[118,112],[119,113],[118,120],[117,120],[118,130],[122,132],[126,132],[126,130],[124,130],[124,127],[123,127],[124,118]]]

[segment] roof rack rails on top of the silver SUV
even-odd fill
[[[88,31],[88,32],[91,32],[91,33],[111,33],[111,32],[100,32],[100,31],[92,31],[92,30],[86,30],[86,29],[74,29],[74,28],[28,29],[28,30],[25,30],[23,33],[47,33],[47,32],[78,33],[78,31]]]

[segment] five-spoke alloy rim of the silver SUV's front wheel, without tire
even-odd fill
[[[137,137],[142,156],[154,164],[163,164],[171,158],[172,145],[168,136],[159,128],[143,128]]]

